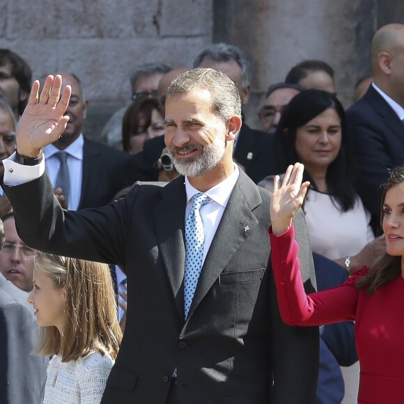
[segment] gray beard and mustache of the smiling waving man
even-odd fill
[[[194,148],[194,147],[193,147]],[[201,155],[196,157],[195,160],[189,159],[177,159],[174,150],[186,150],[185,148],[176,148],[175,146],[170,148],[169,155],[171,155],[171,160],[176,166],[176,170],[182,176],[187,177],[201,177],[205,173],[210,171],[213,167],[217,166],[224,156],[224,150],[226,148],[226,141],[224,139],[215,138],[215,141],[209,146],[198,147],[201,150]]]

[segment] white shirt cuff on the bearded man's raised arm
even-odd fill
[[[15,161],[15,153],[3,160],[4,165],[4,185],[13,187],[14,185],[25,184],[37,180],[45,172],[45,156],[42,162],[36,166],[24,166]]]

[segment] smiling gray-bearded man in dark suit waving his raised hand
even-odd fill
[[[242,124],[233,81],[199,68],[171,84],[165,141],[182,176],[164,187],[138,183],[124,199],[77,212],[61,209],[42,174],[42,148],[68,122],[70,87],[59,102],[60,76],[47,77],[40,97],[38,87],[17,153],[4,163],[5,189],[27,244],[116,263],[127,274],[125,334],[102,403],[313,403],[318,329],[289,327],[279,316],[271,194],[233,162]],[[302,212],[295,227],[313,290]]]

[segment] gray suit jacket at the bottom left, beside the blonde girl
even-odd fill
[[[31,355],[39,327],[27,293],[0,274],[0,403],[40,403],[47,359]]]

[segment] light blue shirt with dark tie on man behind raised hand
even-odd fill
[[[67,148],[64,149],[68,153],[68,167],[70,174],[70,196],[68,200],[68,209],[77,210],[80,203],[81,183],[83,179],[83,146],[84,137],[82,134]],[[49,144],[43,149],[46,157],[46,171],[52,185],[55,187],[56,176],[61,166],[61,161],[56,157],[59,148],[53,144]]]

